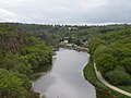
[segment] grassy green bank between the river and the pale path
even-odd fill
[[[106,87],[97,79],[92,57],[90,58],[88,64],[84,68],[84,76],[86,81],[95,86],[97,98],[130,98]]]

